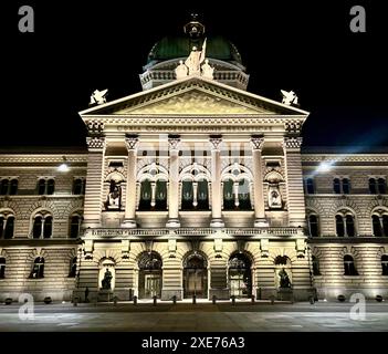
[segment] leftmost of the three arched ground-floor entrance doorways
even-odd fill
[[[139,299],[161,295],[161,257],[157,252],[144,252],[139,257]]]

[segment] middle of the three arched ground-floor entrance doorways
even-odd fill
[[[190,253],[183,261],[183,298],[208,298],[208,264],[198,252]]]

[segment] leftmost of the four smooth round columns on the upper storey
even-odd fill
[[[137,136],[127,135],[125,146],[128,152],[127,160],[127,188],[125,197],[124,228],[136,228],[136,174],[137,174]]]

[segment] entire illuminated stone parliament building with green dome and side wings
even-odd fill
[[[388,296],[388,154],[301,153],[308,112],[203,31],[80,112],[87,150],[0,154],[0,301]]]

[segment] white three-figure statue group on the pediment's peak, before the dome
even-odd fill
[[[212,80],[214,67],[209,65],[209,60],[205,60],[205,56],[206,39],[203,41],[201,51],[198,51],[197,46],[193,46],[190,55],[186,59],[185,63],[181,60],[179,61],[179,65],[175,70],[177,80],[189,75],[198,75]],[[205,64],[202,64],[203,62]]]

